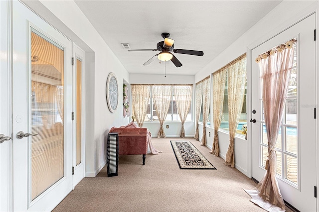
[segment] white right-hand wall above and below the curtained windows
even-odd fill
[[[263,43],[267,39],[275,36],[281,31],[285,30],[289,26],[298,22],[302,18],[308,16],[311,12],[314,12],[318,7],[318,1],[282,1],[270,11],[264,18],[258,21],[253,27],[247,32],[240,36],[234,43],[226,48],[221,54],[214,58],[207,66],[200,70],[194,78],[194,82],[198,82],[205,78],[209,74],[217,71],[221,67],[225,66],[232,60],[236,59],[243,53],[245,53],[249,47],[252,49],[257,45]],[[315,8],[315,9],[314,9]],[[247,56],[247,68],[251,59]],[[247,70],[247,111],[251,111],[251,96],[250,91],[250,73]],[[248,112],[247,119],[250,120],[251,114]],[[202,125],[200,130],[203,130]],[[249,135],[249,128],[251,123],[248,121],[248,141],[242,137],[235,138],[235,167],[242,173],[251,177],[251,140]],[[208,132],[213,133],[213,129],[206,127],[206,134]],[[200,133],[200,139],[202,134]],[[229,145],[229,134],[219,131],[219,150],[220,156],[225,159],[228,145]],[[207,141],[207,146],[211,148],[212,142]]]

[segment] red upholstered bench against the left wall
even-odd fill
[[[148,151],[147,128],[115,128],[110,132],[119,135],[119,155],[143,155],[143,165]]]

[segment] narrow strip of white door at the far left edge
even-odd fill
[[[11,2],[0,1],[0,134],[12,137]],[[4,57],[4,55],[6,55]],[[12,139],[0,143],[0,211],[12,211]]]

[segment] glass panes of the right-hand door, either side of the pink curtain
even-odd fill
[[[275,145],[277,154],[277,175],[288,180],[293,185],[298,185],[298,107],[297,107],[297,43],[295,43],[294,62],[291,71],[291,79],[288,87],[287,99],[283,111],[283,120],[279,129]],[[262,101],[262,100],[261,100]],[[262,104],[262,102],[261,102]],[[262,151],[263,166],[268,155],[268,139],[264,116],[262,124]]]

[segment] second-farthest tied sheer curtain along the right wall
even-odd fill
[[[208,121],[210,107],[210,76],[202,83],[203,90],[203,136],[200,145],[206,146],[206,124]]]

